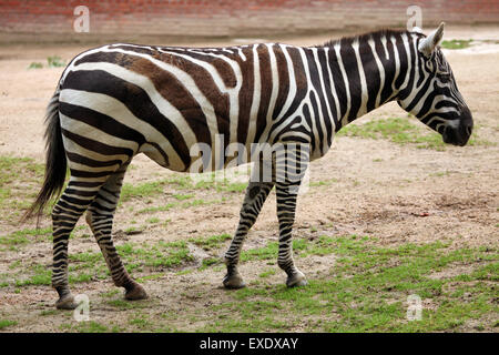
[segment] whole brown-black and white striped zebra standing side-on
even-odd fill
[[[124,287],[126,300],[147,297],[124,268],[111,235],[123,178],[140,153],[187,172],[198,162],[192,148],[203,143],[213,149],[222,138],[223,148],[281,144],[288,162],[314,161],[327,153],[343,126],[390,101],[440,133],[444,142],[465,145],[472,116],[438,45],[442,36],[444,22],[429,36],[379,30],[316,47],[113,43],[77,55],[47,109],[44,182],[26,213],[40,216],[58,197],[51,213],[57,308],[77,306],[68,283],[68,242],[85,212],[114,285]],[[215,169],[235,155],[224,156]],[[277,154],[248,155],[237,156],[237,163],[253,162],[255,169],[224,256],[223,285],[245,286],[237,268],[242,245],[275,186],[277,264],[288,287],[304,286],[307,280],[293,258],[292,229],[296,187],[307,164],[279,175]],[[262,171],[271,171],[269,179],[262,179]]]

